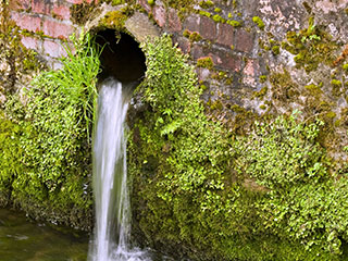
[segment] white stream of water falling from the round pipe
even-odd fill
[[[127,95],[109,78],[101,85],[94,135],[95,235],[91,261],[144,261],[146,253],[129,244],[130,204],[127,189],[125,117]]]

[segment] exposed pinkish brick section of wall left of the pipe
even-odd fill
[[[70,8],[82,1],[11,0],[11,17],[24,29],[22,44],[40,53],[48,65],[60,67],[58,58],[66,54],[63,42],[78,32],[70,20]]]

